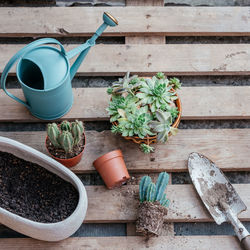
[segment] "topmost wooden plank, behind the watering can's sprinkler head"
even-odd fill
[[[107,29],[107,36],[250,35],[247,7],[138,6],[1,8],[0,36],[89,36],[102,23],[103,11],[119,21]]]

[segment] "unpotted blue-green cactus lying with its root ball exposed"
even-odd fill
[[[136,221],[136,232],[150,237],[159,235],[167,215],[170,201],[164,193],[169,181],[166,172],[159,174],[156,184],[149,176],[142,177],[139,185],[140,205]]]

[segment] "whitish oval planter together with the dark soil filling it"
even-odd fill
[[[45,241],[59,241],[82,224],[87,194],[81,180],[51,157],[0,137],[0,223]]]

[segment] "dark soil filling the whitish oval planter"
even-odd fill
[[[69,217],[78,192],[43,167],[0,151],[0,207],[27,219],[53,223]]]

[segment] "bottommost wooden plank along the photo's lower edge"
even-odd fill
[[[79,237],[59,242],[44,242],[34,239],[0,239],[1,249],[199,249],[240,250],[234,236],[160,236],[145,240],[144,237]],[[119,247],[118,247],[119,246]]]

